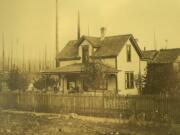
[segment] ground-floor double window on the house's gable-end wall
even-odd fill
[[[125,73],[125,87],[126,89],[134,88],[134,73],[133,72]]]

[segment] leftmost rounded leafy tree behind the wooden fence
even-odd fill
[[[10,90],[26,90],[29,84],[28,75],[20,72],[18,69],[12,69],[7,79],[7,85]]]

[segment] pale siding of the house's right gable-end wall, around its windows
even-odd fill
[[[127,62],[127,45],[131,45],[131,62]],[[120,70],[117,74],[119,94],[137,95],[138,89],[136,88],[135,83],[133,89],[125,88],[125,73],[128,71],[133,72],[135,77],[139,73],[140,69],[140,57],[129,40],[117,56],[117,68]]]

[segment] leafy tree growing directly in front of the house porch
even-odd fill
[[[100,59],[92,58],[90,62],[84,63],[84,85],[91,89],[103,89],[105,84],[105,73],[103,63]]]

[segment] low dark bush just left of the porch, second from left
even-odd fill
[[[42,90],[42,89],[46,89],[48,87],[53,87],[56,84],[56,81],[54,78],[48,76],[48,75],[42,75],[39,79],[37,79],[34,82],[34,87]]]

